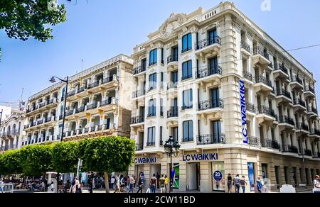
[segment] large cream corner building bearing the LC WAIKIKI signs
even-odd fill
[[[320,169],[313,74],[275,40],[224,2],[173,13],[134,47],[129,174],[169,175],[178,191],[227,191],[228,173],[257,177],[272,190],[311,184]],[[222,175],[222,176],[221,176]]]

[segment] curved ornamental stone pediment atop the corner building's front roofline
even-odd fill
[[[170,17],[159,28],[160,35],[163,38],[169,37],[176,28],[186,22],[186,14],[184,13],[172,13]]]

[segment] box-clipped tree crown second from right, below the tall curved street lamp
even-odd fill
[[[53,170],[61,173],[77,172],[80,142],[59,142],[53,145]]]

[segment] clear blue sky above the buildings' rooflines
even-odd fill
[[[73,0],[75,1],[75,0]],[[87,4],[87,1],[89,2]],[[75,74],[119,53],[132,54],[171,13],[190,13],[199,6],[210,9],[220,3],[208,0],[65,0],[68,21],[53,28],[53,40],[41,43],[9,39],[0,31],[0,102],[16,102],[50,86],[48,79]],[[319,0],[271,0],[271,11],[262,11],[263,0],[233,1],[252,21],[290,50],[320,43]],[[309,7],[311,5],[311,7]],[[307,31],[307,32],[304,32]],[[292,52],[316,79],[320,79],[320,47]],[[316,89],[320,90],[319,83]],[[318,95],[320,92],[318,91]]]

